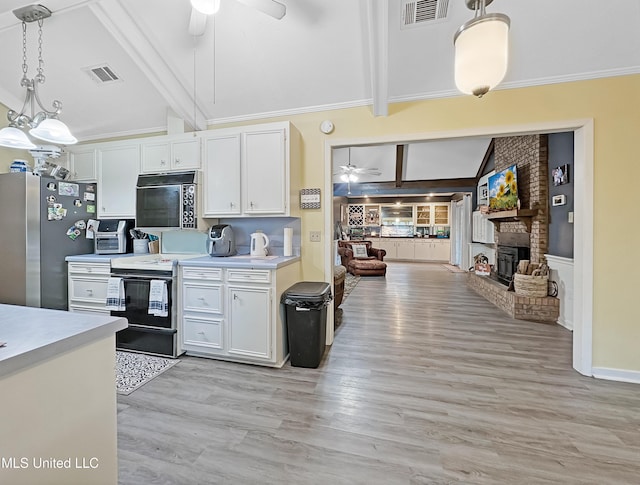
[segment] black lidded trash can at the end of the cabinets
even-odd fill
[[[291,365],[318,367],[324,355],[331,286],[321,281],[301,281],[286,290],[280,301],[286,307]]]

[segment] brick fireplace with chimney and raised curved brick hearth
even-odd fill
[[[557,298],[528,298],[507,289],[519,260],[540,263],[548,250],[547,135],[496,138],[494,158],[496,172],[516,165],[520,209],[488,215],[497,236],[496,265],[490,278],[470,272],[469,285],[514,318],[555,322],[560,308]]]

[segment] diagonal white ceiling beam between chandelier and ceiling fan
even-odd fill
[[[134,22],[135,15],[119,0],[103,0],[90,4],[89,8],[160,92],[168,107],[187,123],[195,124],[194,130],[205,130],[206,116],[194,106],[192,93],[175,76],[178,70],[167,64]]]

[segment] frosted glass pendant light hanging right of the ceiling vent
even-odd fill
[[[482,97],[495,88],[507,73],[510,19],[504,14],[487,14],[493,0],[466,0],[475,17],[456,32],[455,82],[460,91]]]

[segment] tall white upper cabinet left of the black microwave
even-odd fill
[[[105,144],[98,148],[98,217],[133,219],[140,144]]]

